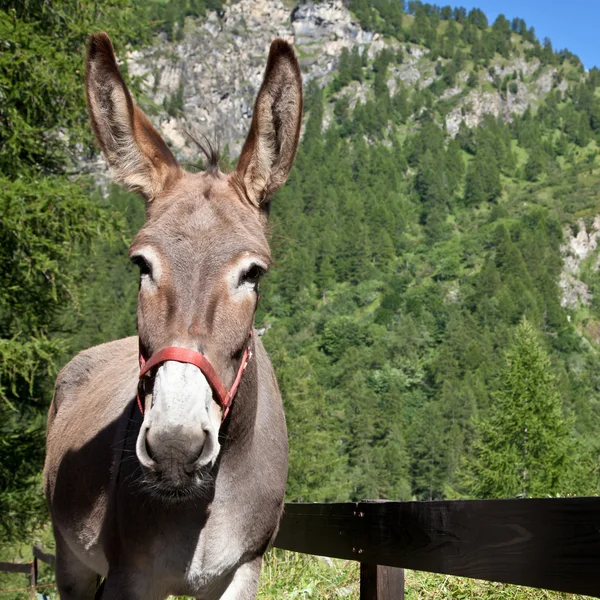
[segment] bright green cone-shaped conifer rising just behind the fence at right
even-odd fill
[[[550,358],[527,320],[516,328],[505,361],[489,414],[475,423],[463,490],[473,498],[566,493],[571,420]]]

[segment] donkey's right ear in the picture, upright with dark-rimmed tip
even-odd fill
[[[302,77],[292,47],[271,44],[250,132],[236,173],[250,200],[260,205],[280,188],[292,168],[302,123]]]

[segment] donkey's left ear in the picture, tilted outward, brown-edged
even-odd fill
[[[181,169],[131,99],[105,33],[89,38],[85,89],[92,129],[115,180],[152,201],[179,178]]]

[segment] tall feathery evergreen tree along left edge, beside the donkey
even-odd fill
[[[129,3],[9,6],[0,6],[0,514],[9,516],[0,537],[10,538],[45,514],[35,485],[66,346],[56,319],[81,295],[75,261],[120,225],[92,200],[91,181],[73,175],[72,157],[92,146],[81,49],[102,28],[117,43],[147,34]]]

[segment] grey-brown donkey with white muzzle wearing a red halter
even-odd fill
[[[179,166],[105,33],[89,40],[86,94],[96,140],[116,181],[145,198],[146,222],[129,250],[139,337],[78,354],[50,407],[44,485],[60,597],[252,599],[287,478],[281,396],[253,322],[269,199],[300,135],[298,62],[272,43],[228,174],[214,156],[201,173]]]

